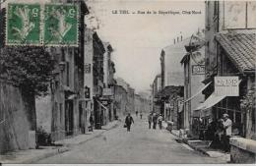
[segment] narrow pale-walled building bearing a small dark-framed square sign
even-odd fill
[[[185,121],[194,136],[199,136],[200,110],[198,105],[204,102],[202,91],[205,80],[205,33],[204,30],[192,34],[190,42],[185,45],[187,53],[181,60],[184,67],[184,113]]]

